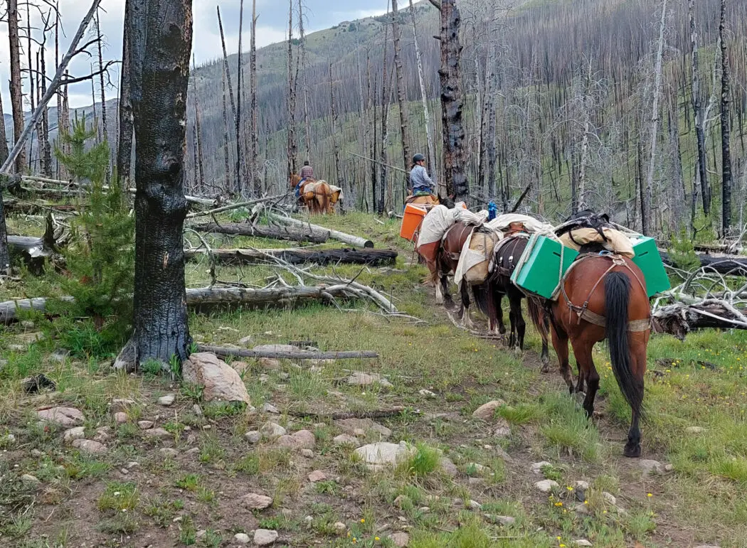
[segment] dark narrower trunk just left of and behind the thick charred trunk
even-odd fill
[[[143,5],[141,2],[125,2],[125,22],[131,21],[134,17],[139,16],[139,13],[132,13],[133,10],[142,10]],[[131,89],[131,46],[130,46],[130,33],[131,28],[125,24],[123,31],[123,52],[122,52],[122,75],[120,76],[120,101],[119,101],[119,117],[120,117],[120,131],[117,135],[117,178],[120,181],[120,186],[126,190],[130,185],[130,170],[132,167],[132,138],[133,138],[133,124],[132,124],[132,89]],[[65,87],[67,90],[67,87]],[[67,92],[65,92],[67,95]]]

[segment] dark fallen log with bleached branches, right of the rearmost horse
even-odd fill
[[[687,305],[666,305],[651,314],[654,333],[668,333],[684,340],[696,329],[747,329],[741,311],[716,300]]]

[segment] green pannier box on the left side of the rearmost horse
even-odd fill
[[[562,253],[562,273],[560,255]],[[578,252],[551,240],[548,237],[532,234],[511,275],[511,281],[521,289],[551,299],[560,283],[560,277],[578,257]]]

